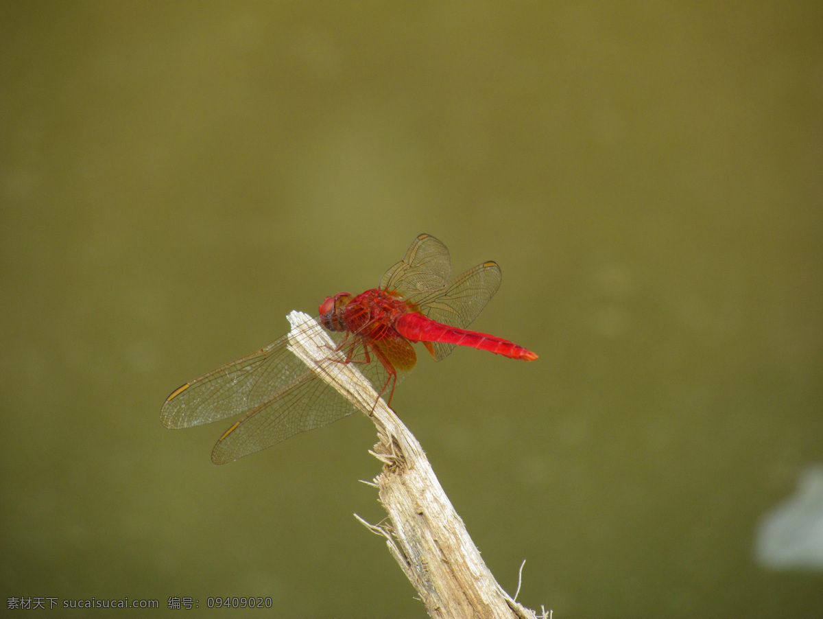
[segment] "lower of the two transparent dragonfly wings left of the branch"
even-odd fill
[[[341,369],[342,364],[332,361],[326,365],[332,375]],[[356,410],[336,389],[309,371],[231,426],[214,446],[212,462],[231,462],[300,432],[326,426]]]

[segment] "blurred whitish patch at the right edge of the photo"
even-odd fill
[[[823,464],[807,467],[797,493],[765,516],[755,552],[772,570],[823,570]]]

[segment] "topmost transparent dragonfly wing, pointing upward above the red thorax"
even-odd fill
[[[420,235],[403,259],[380,278],[380,288],[412,297],[444,288],[451,271],[449,249],[432,235]]]

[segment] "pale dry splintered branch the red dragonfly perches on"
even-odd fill
[[[440,487],[416,438],[378,398],[355,364],[323,372],[320,361],[334,344],[308,314],[292,312],[290,347],[321,379],[337,389],[377,427],[374,456],[384,463],[374,479],[388,524],[367,524],[386,538],[388,550],[419,593],[430,617],[535,619],[506,593],[483,562],[463,520]],[[307,333],[317,334],[314,340]],[[376,406],[374,405],[377,402]]]

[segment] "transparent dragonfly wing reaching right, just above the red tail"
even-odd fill
[[[428,318],[452,327],[467,328],[495,296],[501,280],[500,267],[490,261],[455,277],[442,290],[421,294],[411,300],[420,305]],[[454,350],[454,344],[435,342],[434,350],[435,360],[442,361]]]

